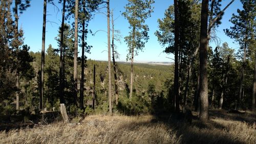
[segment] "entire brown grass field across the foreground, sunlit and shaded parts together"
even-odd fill
[[[196,113],[194,113],[196,115]],[[0,143],[255,143],[256,114],[210,111],[210,121],[185,124],[169,116],[91,115],[80,124],[55,122],[0,132]],[[196,116],[195,116],[196,117]]]

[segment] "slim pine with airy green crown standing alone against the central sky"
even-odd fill
[[[125,12],[122,15],[128,20],[130,26],[129,36],[125,36],[125,42],[129,47],[129,53],[126,60],[131,60],[131,85],[130,85],[130,98],[133,95],[133,74],[134,74],[134,56],[142,51],[145,43],[148,40],[147,31],[148,26],[145,25],[145,19],[151,16],[153,8],[151,5],[153,0],[128,0],[128,4],[124,7]]]

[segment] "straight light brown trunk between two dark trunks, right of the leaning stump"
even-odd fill
[[[75,2],[74,104],[77,106],[78,0]]]

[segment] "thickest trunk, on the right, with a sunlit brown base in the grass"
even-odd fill
[[[200,114],[201,120],[209,119],[208,80],[207,80],[207,23],[208,0],[202,1],[200,31]]]

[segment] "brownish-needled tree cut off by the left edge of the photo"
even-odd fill
[[[14,38],[14,22],[11,15],[11,0],[0,1],[0,101],[11,100],[15,88],[15,61],[12,57],[12,40]]]

